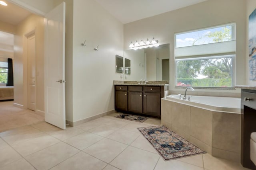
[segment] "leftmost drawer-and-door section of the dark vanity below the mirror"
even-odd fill
[[[127,86],[115,86],[115,109],[127,111]]]

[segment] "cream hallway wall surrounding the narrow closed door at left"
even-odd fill
[[[44,111],[44,18],[31,14],[16,26],[14,35],[14,103],[25,106],[26,56],[24,55],[24,35],[36,29],[36,111]],[[26,108],[26,106],[25,106]]]

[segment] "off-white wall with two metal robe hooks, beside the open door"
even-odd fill
[[[124,41],[123,24],[94,0],[74,0],[73,17],[75,122],[114,109],[113,80],[120,80],[115,56],[123,56]]]

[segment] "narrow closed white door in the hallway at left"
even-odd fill
[[[27,38],[28,57],[28,109],[36,110],[36,37]]]

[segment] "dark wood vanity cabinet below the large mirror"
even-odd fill
[[[124,113],[140,113],[161,117],[164,86],[115,85],[115,109]]]

